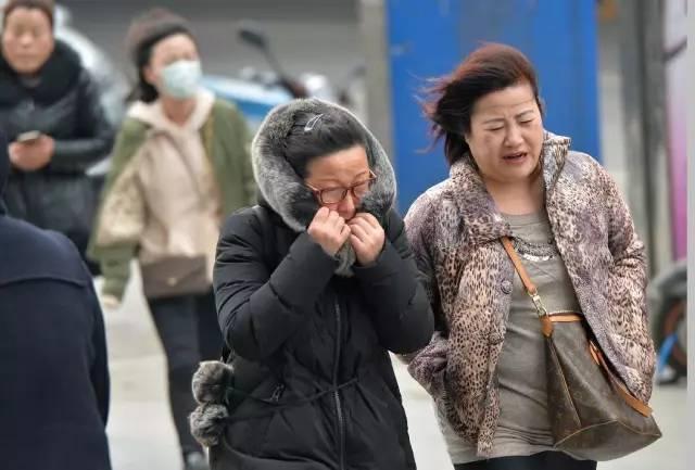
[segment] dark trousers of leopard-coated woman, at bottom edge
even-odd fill
[[[528,457],[500,457],[454,466],[455,470],[595,470],[593,460],[574,460],[561,452],[542,452]]]

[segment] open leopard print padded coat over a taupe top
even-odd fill
[[[569,144],[545,132],[541,158],[551,227],[598,343],[646,403],[656,355],[644,245],[608,173]],[[500,415],[495,368],[515,276],[500,238],[511,236],[510,228],[470,156],[413,204],[405,223],[439,325],[408,369],[456,433],[489,456]]]

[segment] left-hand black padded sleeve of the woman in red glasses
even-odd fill
[[[304,232],[268,269],[261,224],[253,209],[227,219],[213,279],[224,338],[236,355],[251,360],[275,353],[313,314],[338,264]]]

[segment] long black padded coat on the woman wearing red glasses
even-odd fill
[[[283,190],[290,187],[282,178],[270,185],[282,196],[270,194],[265,177],[274,170],[262,160],[273,156],[261,155],[258,144],[256,138],[260,188],[275,202],[232,215],[217,251],[217,312],[235,354],[233,389],[241,393],[232,395],[226,433],[211,448],[212,468],[415,469],[389,351],[427,345],[433,317],[403,221],[394,211],[380,211],[393,196],[386,154],[371,141],[380,182],[363,208],[382,214],[387,242],[374,265],[355,265],[354,276],[345,277],[336,275],[338,259],[288,225],[302,217],[288,215],[281,201],[303,196]]]

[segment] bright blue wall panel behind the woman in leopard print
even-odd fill
[[[430,139],[416,96],[483,41],[527,54],[539,73],[545,127],[599,157],[595,1],[387,0],[387,18],[402,212],[447,175],[441,147],[424,152]]]

